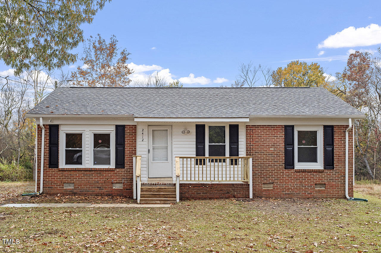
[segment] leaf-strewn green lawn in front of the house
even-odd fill
[[[0,185],[1,186],[1,185]],[[4,252],[379,252],[381,199],[182,201],[169,208],[0,207]],[[311,252],[311,251],[309,251]]]

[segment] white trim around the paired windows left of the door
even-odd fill
[[[59,168],[115,168],[115,125],[59,126]],[[82,133],[82,165],[65,164],[66,133]],[[94,133],[110,134],[110,165],[93,165]]]

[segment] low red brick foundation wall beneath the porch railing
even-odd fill
[[[248,198],[249,185],[244,183],[182,183],[180,199]]]

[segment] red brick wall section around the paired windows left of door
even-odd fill
[[[125,168],[48,168],[49,125],[45,126],[43,193],[77,195],[119,195],[133,194],[133,155],[136,155],[136,125],[125,127]],[[37,191],[40,190],[41,138],[42,128],[37,127]],[[123,183],[123,189],[113,189],[114,183]],[[74,183],[74,189],[64,189],[64,183]]]

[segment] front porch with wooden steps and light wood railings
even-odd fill
[[[174,157],[176,181],[169,186],[145,185],[141,180],[141,156],[133,156],[133,197],[138,203],[179,202],[187,190],[181,185],[247,185],[253,198],[252,157]],[[229,189],[227,189],[229,191]],[[141,198],[143,196],[143,198]],[[176,196],[176,198],[174,198]]]

